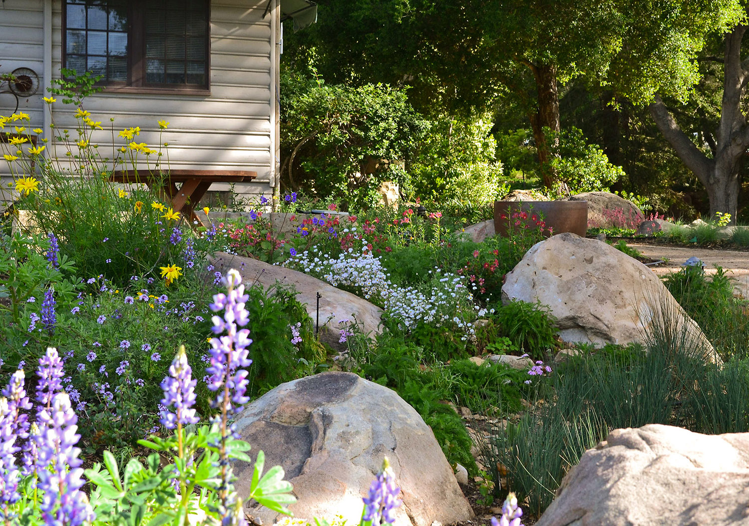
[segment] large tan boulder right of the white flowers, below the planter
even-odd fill
[[[703,331],[658,276],[597,239],[560,233],[533,245],[506,276],[502,302],[513,299],[548,305],[565,342],[644,342],[665,325],[715,358]]]

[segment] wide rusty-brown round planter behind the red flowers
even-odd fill
[[[542,216],[552,234],[571,232],[585,237],[588,230],[588,201],[494,201],[494,230],[497,235],[507,236],[508,227],[516,219],[515,212],[536,212]],[[503,218],[504,216],[504,218]],[[544,232],[549,236],[548,230]]]

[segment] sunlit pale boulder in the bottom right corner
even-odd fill
[[[536,526],[749,525],[749,433],[616,429],[562,480]]]

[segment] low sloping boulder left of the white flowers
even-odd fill
[[[293,285],[298,293],[297,299],[305,305],[312,322],[318,319],[317,294],[320,293],[320,339],[326,343],[338,343],[343,326],[341,322],[344,320],[353,323],[355,319],[364,333],[380,334],[382,331],[382,309],[366,299],[333,287],[304,272],[226,252],[216,252],[216,257],[211,263],[216,270],[224,274],[229,269],[237,269],[246,285],[261,284],[266,289],[273,287],[277,282]]]

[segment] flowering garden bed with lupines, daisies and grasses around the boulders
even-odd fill
[[[79,110],[78,137],[58,144],[74,144],[79,177],[26,147],[27,118],[3,120],[21,152],[4,154],[19,196],[4,218],[0,260],[6,523],[183,523],[187,510],[236,518],[228,461],[250,457],[232,416],[274,386],[324,370],[396,391],[451,465],[466,468],[477,506],[489,510],[511,491],[527,521],[612,429],[749,430],[746,305],[721,272],[708,279],[689,267],[665,284],[722,364],[675,349],[667,331],[651,334],[646,349],[577,346],[557,363],[562,342],[549,308],[500,301],[504,275],[548,234],[538,214],[515,212],[508,236],[473,242],[461,230],[491,216],[488,206],[416,201],[341,215],[334,201],[290,192],[279,210],[304,219],[288,235],[273,229],[264,214],[273,198],[264,195],[249,204],[251,224],[206,228],[145,187],[109,183],[88,147],[98,123],[87,111]],[[125,162],[157,152],[131,140],[137,133],[120,132]],[[321,204],[327,211],[303,213]],[[293,288],[245,287],[238,272],[210,263],[218,252],[368,299],[383,309],[382,331],[365,334],[354,319],[334,350],[315,338]],[[518,370],[490,355],[535,364]],[[283,510],[291,487],[276,468],[261,477],[263,464],[256,456],[249,497]]]

